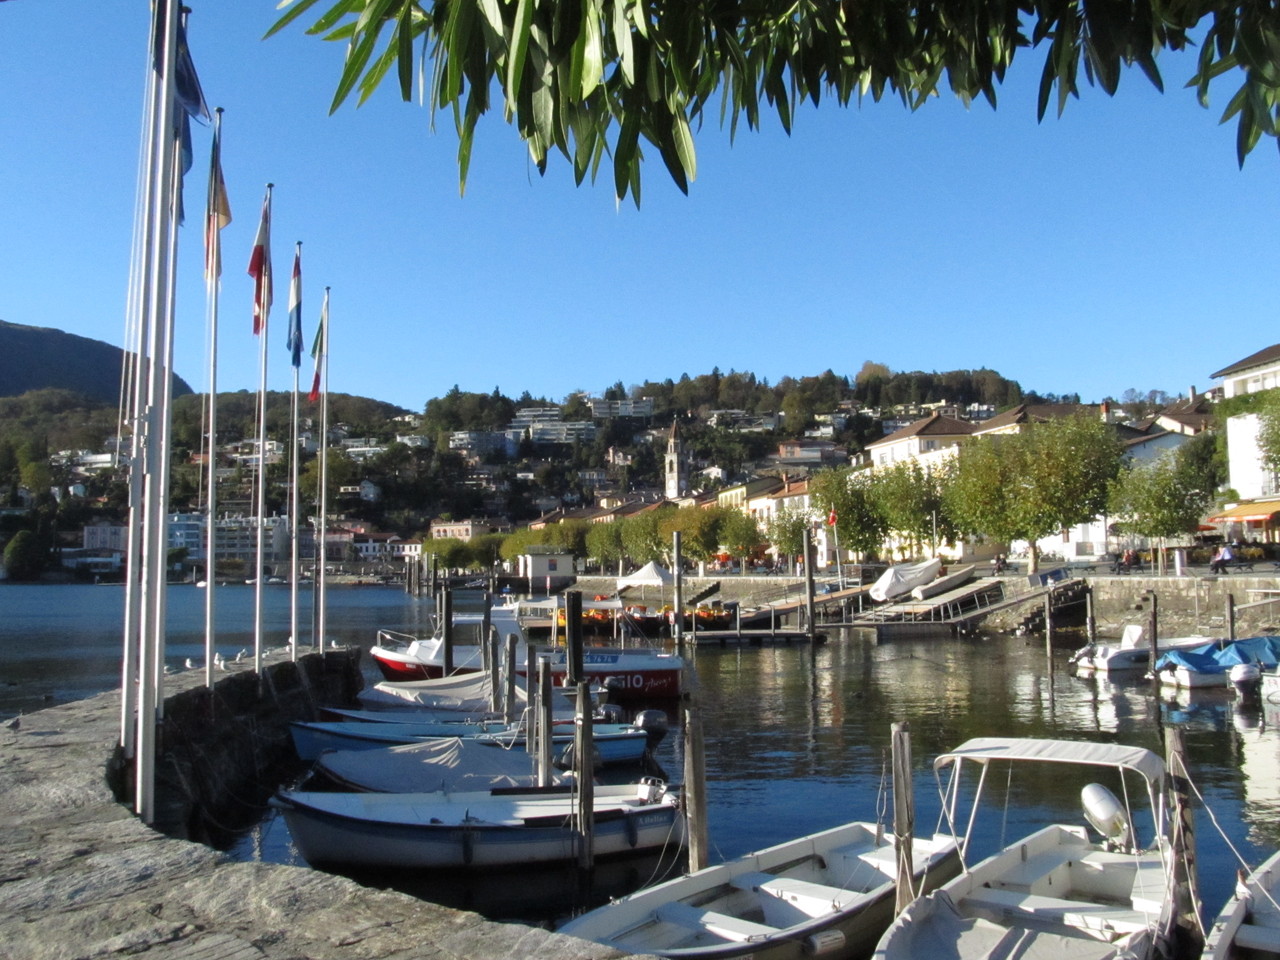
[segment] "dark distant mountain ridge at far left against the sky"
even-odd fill
[[[0,397],[55,388],[114,404],[123,358],[124,351],[110,343],[0,320]],[[173,393],[191,393],[191,387],[174,376]]]

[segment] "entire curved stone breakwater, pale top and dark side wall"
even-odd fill
[[[356,655],[276,654],[264,682],[243,666],[210,698],[202,672],[166,678],[159,809],[182,831],[216,808],[211,785],[252,778],[291,712],[353,682]],[[211,703],[214,704],[211,708]],[[143,824],[122,803],[118,692],[0,727],[0,956],[81,960],[604,960],[617,951],[492,923],[317,870],[237,863]],[[250,735],[259,746],[244,749]],[[215,749],[216,744],[221,744]],[[265,748],[262,746],[265,745]]]

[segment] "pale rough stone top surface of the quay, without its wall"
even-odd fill
[[[188,686],[197,685],[191,671]],[[179,675],[186,676],[186,675]],[[5,960],[588,960],[614,950],[297,867],[236,863],[116,801],[119,694],[0,726]]]

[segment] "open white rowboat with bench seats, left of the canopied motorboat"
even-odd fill
[[[927,890],[960,864],[945,835],[918,837],[913,860]],[[893,919],[895,877],[892,836],[846,823],[631,893],[559,932],[672,959],[856,956]]]

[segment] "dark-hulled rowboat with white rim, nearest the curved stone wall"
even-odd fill
[[[302,858],[312,865],[481,869],[572,860],[571,787],[461,794],[282,791]],[[594,854],[617,856],[684,845],[684,815],[660,781],[594,788]]]

